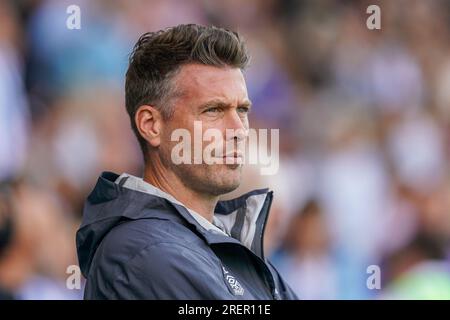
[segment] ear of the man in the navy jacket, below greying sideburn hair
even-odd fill
[[[153,106],[142,105],[134,117],[139,134],[147,140],[152,147],[161,144],[162,115]]]

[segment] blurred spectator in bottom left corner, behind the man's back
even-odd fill
[[[74,221],[45,190],[20,181],[4,188],[0,288],[14,299],[81,298],[66,287],[66,269],[76,264]]]

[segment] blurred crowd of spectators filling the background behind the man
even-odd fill
[[[266,255],[299,297],[450,299],[445,0],[0,1],[0,298],[82,298],[66,280],[85,197],[102,171],[142,173],[128,55],[180,23],[247,40],[251,125],[280,129],[280,166],[227,197],[274,190]]]

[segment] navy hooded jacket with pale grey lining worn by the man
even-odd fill
[[[118,177],[99,177],[77,232],[85,299],[296,299],[263,254],[272,192],[219,202],[226,236]]]

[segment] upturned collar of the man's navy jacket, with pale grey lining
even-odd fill
[[[89,195],[88,202],[110,203],[115,207],[119,205],[121,212],[118,212],[118,214],[129,219],[158,217],[188,224],[209,245],[220,243],[241,244],[264,260],[263,237],[272,203],[272,191],[268,189],[254,190],[238,198],[217,203],[215,217],[221,222],[224,231],[231,235],[231,237],[228,237],[213,229],[206,229],[181,203],[125,188],[115,183],[118,177],[119,175],[115,173],[103,172],[93,192]],[[168,210],[169,208],[175,209],[176,214],[170,214],[174,210]],[[89,223],[89,219],[83,220],[85,222],[83,225]]]

